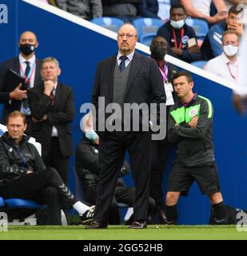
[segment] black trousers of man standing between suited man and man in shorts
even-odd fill
[[[162,181],[166,161],[169,155],[171,144],[168,138],[161,141],[152,141],[152,172],[150,180],[150,196],[156,203],[156,209],[164,209]]]

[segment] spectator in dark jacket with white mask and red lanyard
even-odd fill
[[[169,14],[169,22],[157,30],[157,35],[167,40],[171,53],[182,61],[190,63],[201,60],[196,34],[191,26],[185,24],[185,7],[173,5]]]

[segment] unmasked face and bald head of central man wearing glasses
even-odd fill
[[[118,30],[118,50],[121,54],[128,55],[132,53],[137,40],[137,31],[133,26],[125,24]]]

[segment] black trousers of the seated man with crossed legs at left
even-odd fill
[[[0,195],[5,199],[22,198],[46,204],[50,225],[61,225],[61,210],[69,209],[78,201],[54,168],[24,174],[2,185]]]

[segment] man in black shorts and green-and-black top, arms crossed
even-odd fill
[[[178,72],[172,82],[180,99],[169,110],[168,138],[177,143],[177,159],[166,194],[168,223],[177,224],[178,198],[187,195],[196,181],[201,193],[209,197],[217,224],[228,224],[214,158],[212,103],[193,93],[193,78],[189,73]]]

